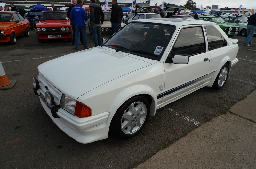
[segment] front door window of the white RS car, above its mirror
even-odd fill
[[[202,27],[182,29],[172,48],[170,53],[171,56],[174,56],[175,54],[187,54],[188,56],[192,56],[206,52],[205,40],[202,32]]]

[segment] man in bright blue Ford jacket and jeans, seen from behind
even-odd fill
[[[72,8],[70,12],[70,19],[74,21],[76,25],[76,37],[75,37],[75,47],[74,49],[78,49],[78,39],[79,39],[79,32],[82,30],[83,39],[84,39],[84,49],[89,49],[87,46],[87,38],[86,38],[86,21],[87,16],[85,14],[85,10],[83,8],[83,1],[77,0],[77,5]]]

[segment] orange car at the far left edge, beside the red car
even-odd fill
[[[16,37],[29,36],[30,23],[18,12],[0,11],[0,42],[16,44]]]

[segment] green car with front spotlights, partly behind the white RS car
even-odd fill
[[[210,17],[210,16],[203,16],[197,18],[197,20],[204,20],[204,21],[210,21],[210,22],[215,22],[217,23],[220,28],[228,35],[228,36],[234,36],[237,35],[237,31],[240,29],[239,26],[235,25],[228,25],[226,22],[220,18],[220,17]]]

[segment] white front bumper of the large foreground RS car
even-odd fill
[[[51,109],[47,107],[41,98],[40,102],[52,121],[77,142],[91,143],[108,138],[110,124],[110,122],[108,122],[108,112],[103,112],[87,118],[79,118],[60,108],[57,112],[57,115],[60,118],[54,118]]]

